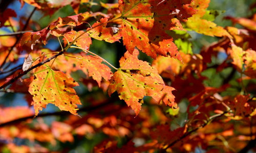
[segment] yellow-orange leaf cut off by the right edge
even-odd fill
[[[229,52],[233,59],[232,64],[236,65],[239,72],[256,78],[256,52],[254,50],[244,51],[241,47],[232,44]]]

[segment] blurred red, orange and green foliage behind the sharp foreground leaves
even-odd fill
[[[87,30],[102,17],[113,18],[113,14],[118,10],[118,5],[104,6],[115,4],[116,1],[63,1],[67,2],[67,5],[62,5],[65,4],[63,2],[61,4],[57,1],[47,1],[48,4],[57,2],[59,7],[55,10],[40,4],[46,1],[35,1],[37,3],[33,4],[34,6],[30,5],[31,2],[33,1],[1,1],[0,64],[4,62],[9,50],[12,50],[0,69],[1,86],[15,77],[15,72],[19,72],[18,69],[22,67],[24,58],[29,53],[35,60],[40,53],[61,50],[57,37],[49,37],[45,45],[36,43],[31,52],[28,51],[31,44],[28,45],[27,41],[17,41],[15,44],[22,35],[3,35],[18,31],[40,31],[55,22],[58,17],[85,12],[90,14],[87,23],[71,30]],[[198,2],[199,6],[207,3],[199,0],[195,2]],[[35,6],[37,8],[33,11]],[[89,68],[71,68],[74,63],[77,64],[74,58],[59,56],[53,64],[53,69],[65,71],[78,83],[79,86],[74,89],[82,104],[78,105],[79,116],[71,114],[72,112],[60,111],[54,104],[48,104],[47,108],[35,117],[30,95],[33,91],[28,90],[31,83],[29,78],[33,76],[31,71],[22,79],[0,90],[1,151],[255,151],[255,6],[255,1],[211,0],[205,13],[201,16],[194,15],[194,20],[182,22],[183,31],[168,31],[168,35],[173,37],[178,47],[182,62],[161,56],[154,59],[139,52],[138,59],[151,63],[163,78],[165,85],[176,89],[172,92],[175,96],[172,107],[164,105],[164,101],[158,104],[152,97],[144,96],[141,110],[136,111],[132,106],[134,112],[131,107],[127,107],[124,100],[119,99],[118,93],[108,95],[110,89],[108,90],[107,76],[103,77],[102,81],[92,78],[90,71],[87,72]],[[4,14],[7,9],[14,10],[16,16],[13,12]],[[26,25],[31,14],[32,17]],[[200,17],[197,18],[197,15]],[[8,17],[5,20],[6,16]],[[213,22],[217,24],[216,27]],[[200,23],[203,27],[198,27]],[[113,22],[109,27],[118,25],[120,22]],[[69,33],[66,36],[72,35]],[[67,44],[67,40],[62,40],[62,36],[60,38],[62,45]],[[109,43],[92,39],[90,51],[119,67],[119,60],[126,52],[123,41],[120,41]],[[23,52],[19,45],[22,43]],[[65,54],[68,56],[80,58],[81,49],[69,48],[67,52]],[[47,58],[50,57],[51,54],[47,55]],[[68,62],[63,62],[65,60]],[[100,68],[95,67],[97,72],[104,69],[100,62],[101,60],[98,63]],[[51,66],[51,63],[46,65]],[[122,67],[121,64],[120,66]],[[113,68],[112,72],[115,72]],[[101,83],[100,87],[98,83]],[[40,80],[33,84],[39,85]],[[51,84],[52,82],[49,83]]]

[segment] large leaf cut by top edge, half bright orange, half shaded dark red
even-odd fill
[[[171,55],[181,60],[173,38],[165,31],[182,30],[180,21],[186,21],[195,14],[194,9],[189,6],[190,2],[119,0],[121,35],[127,50],[133,53],[136,46],[153,58],[159,54]]]

